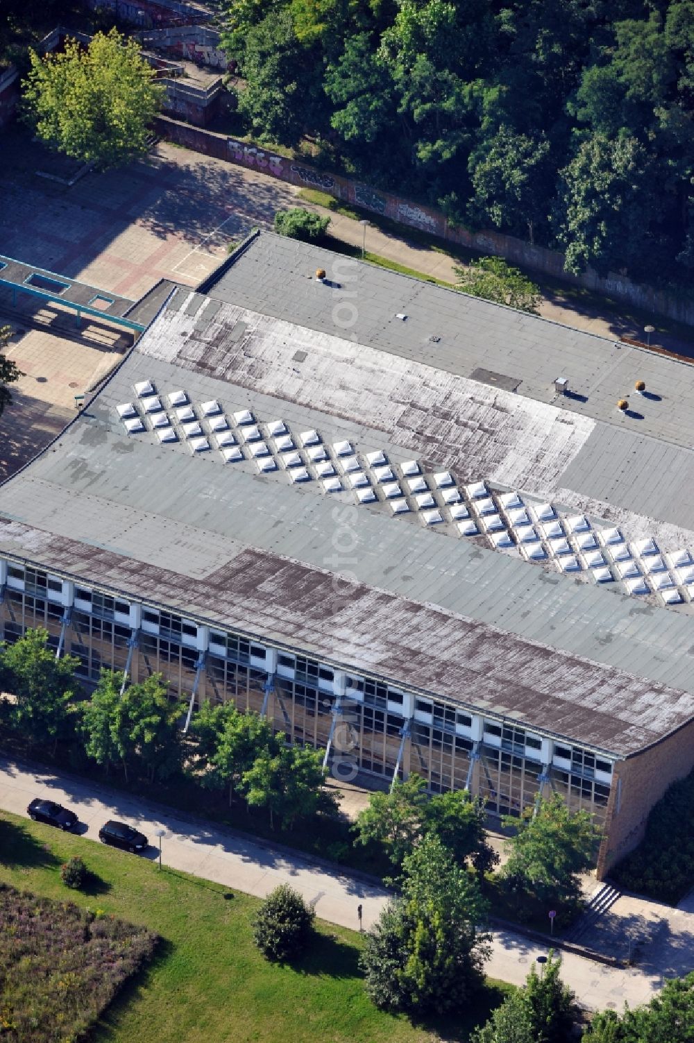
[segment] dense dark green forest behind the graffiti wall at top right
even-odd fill
[[[369,184],[687,287],[694,0],[233,0],[239,112]]]

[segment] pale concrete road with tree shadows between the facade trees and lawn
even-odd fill
[[[152,860],[157,858],[155,833],[163,828],[164,865],[258,897],[280,883],[290,883],[315,906],[321,919],[345,927],[357,928],[358,904],[363,906],[363,926],[372,926],[388,900],[383,888],[211,823],[186,821],[146,797],[138,800],[48,768],[0,757],[0,807],[26,816],[33,797],[50,797],[71,807],[79,816],[83,835],[90,840],[98,840],[99,826],[110,818],[137,826],[152,842],[147,852]],[[534,960],[546,952],[547,947],[521,935],[495,930],[485,970],[492,977],[522,985]],[[589,1010],[619,1010],[624,1001],[630,1005],[643,1003],[663,985],[657,968],[649,968],[648,973],[633,968],[621,970],[569,952],[563,953],[563,976]]]

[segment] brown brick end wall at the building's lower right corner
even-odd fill
[[[615,765],[605,840],[598,856],[599,878],[643,840],[648,812],[668,786],[693,770],[694,723],[644,753]]]

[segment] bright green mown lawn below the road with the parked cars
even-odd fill
[[[80,854],[99,882],[69,891],[59,866]],[[468,1040],[509,987],[489,981],[456,1024],[413,1026],[366,998],[354,931],[318,922],[315,948],[296,968],[267,964],[250,941],[257,900],[49,826],[3,815],[0,879],[143,924],[164,941],[152,964],[106,1012],[94,1043],[425,1043]]]

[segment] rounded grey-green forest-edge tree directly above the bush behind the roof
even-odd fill
[[[497,228],[527,232],[534,243],[535,229],[547,220],[553,188],[547,138],[501,126],[471,154],[469,168],[475,192],[471,215]]]

